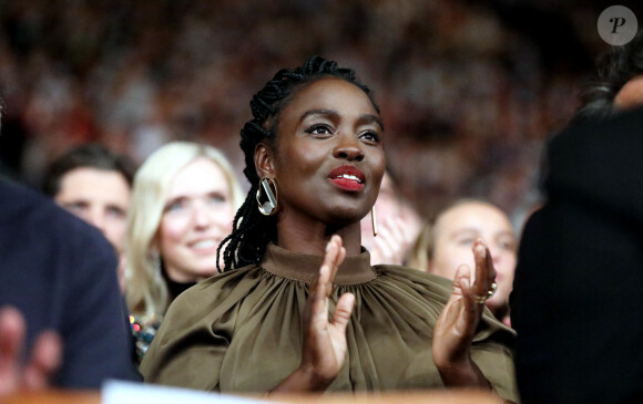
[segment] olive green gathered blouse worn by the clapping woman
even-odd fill
[[[261,266],[217,274],[170,307],[141,372],[146,382],[221,392],[266,392],[302,358],[302,313],[323,257],[274,245]],[[433,325],[451,282],[397,266],[370,267],[367,251],[339,267],[329,310],[355,294],[344,366],[328,391],[443,387],[431,356]],[[471,355],[502,397],[517,401],[514,332],[486,309]]]

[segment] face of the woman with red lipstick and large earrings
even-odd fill
[[[322,79],[279,114],[275,175],[282,216],[327,225],[359,221],[384,175],[382,125],[356,85]]]

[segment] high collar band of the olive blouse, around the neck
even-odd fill
[[[310,283],[319,274],[324,256],[314,256],[287,250],[274,244],[266,247],[262,268],[278,277]],[[346,257],[335,276],[335,284],[357,284],[377,278],[370,266],[370,253]]]

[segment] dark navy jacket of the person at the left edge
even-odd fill
[[[59,387],[139,380],[116,266],[99,230],[0,179],[0,307],[13,305],[24,315],[25,352],[44,330],[62,336],[63,361],[53,381]]]

